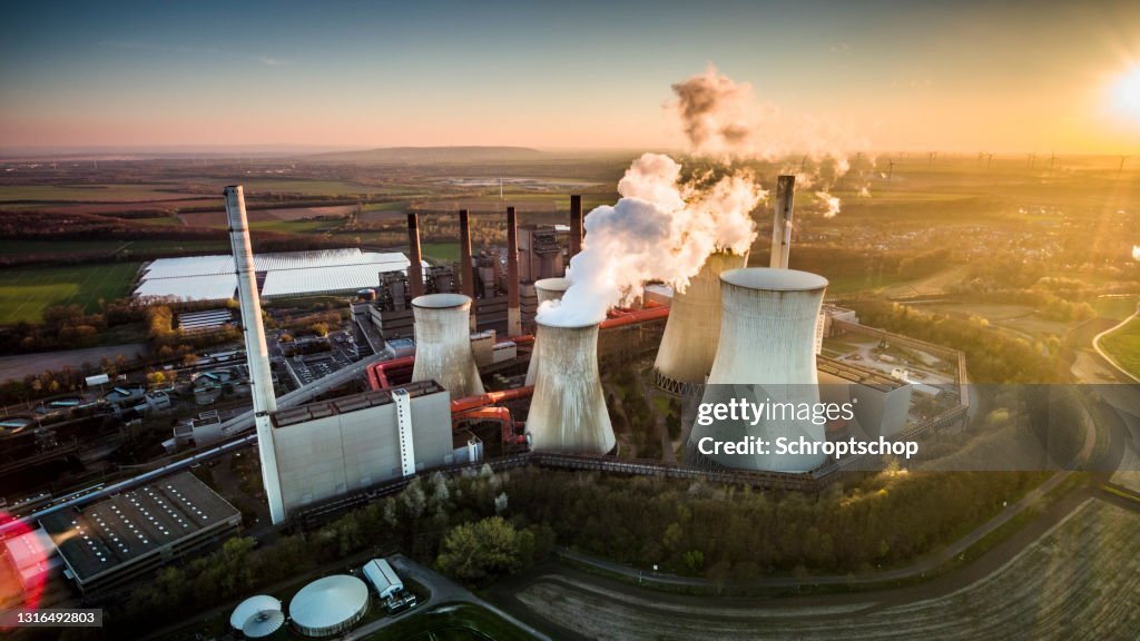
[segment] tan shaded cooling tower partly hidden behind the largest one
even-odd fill
[[[720,274],[748,265],[748,255],[716,252],[684,292],[673,297],[653,363],[657,386],[681,396],[700,393],[720,339]]]

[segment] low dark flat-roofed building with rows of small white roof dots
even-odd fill
[[[83,592],[138,578],[237,532],[242,514],[189,472],[40,520]]]

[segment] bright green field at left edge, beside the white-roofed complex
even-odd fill
[[[0,324],[39,323],[55,305],[99,310],[99,299],[113,301],[130,293],[137,262],[78,267],[25,267],[0,271]]]

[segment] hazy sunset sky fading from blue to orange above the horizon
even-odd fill
[[[21,2],[0,146],[679,147],[712,63],[877,149],[1140,153],[1140,2],[915,5]]]

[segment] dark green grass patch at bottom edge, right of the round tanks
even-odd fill
[[[490,610],[445,603],[394,623],[366,641],[524,641],[534,639]]]

